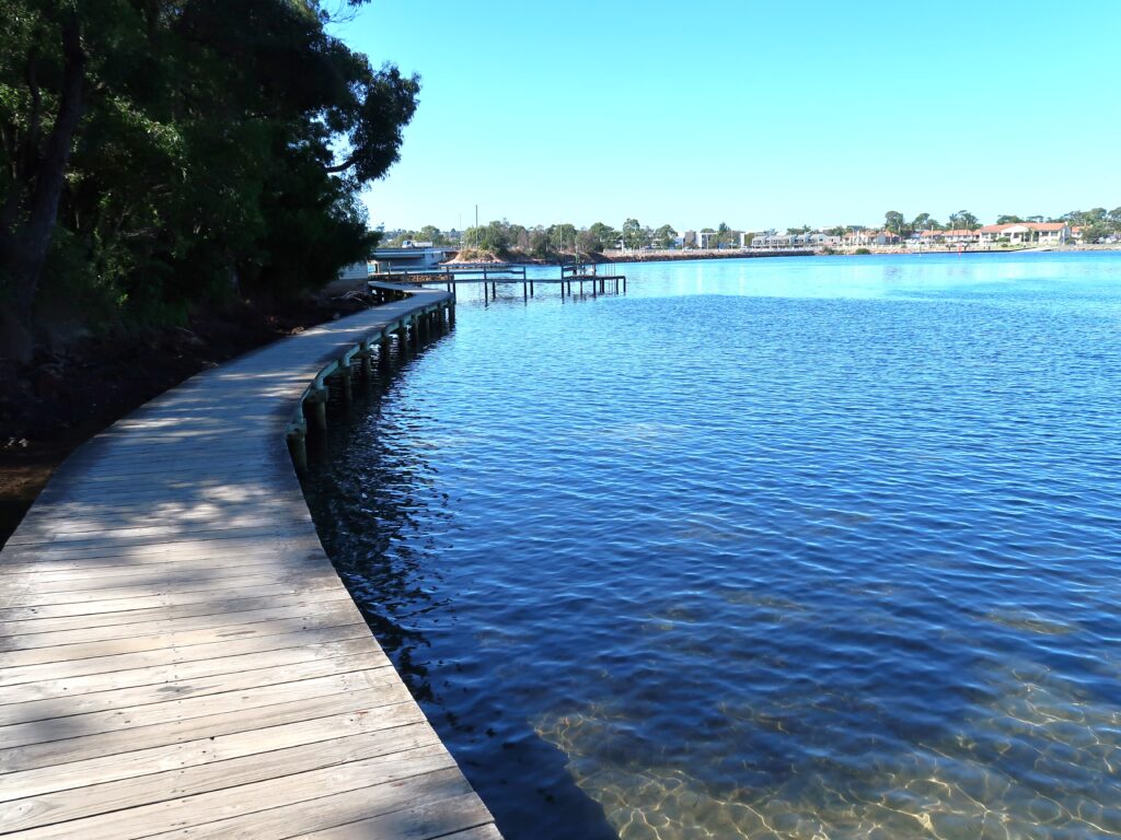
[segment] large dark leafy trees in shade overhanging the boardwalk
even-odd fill
[[[180,321],[376,244],[360,190],[419,80],[349,49],[325,4],[0,0],[0,349],[26,357],[52,301]]]

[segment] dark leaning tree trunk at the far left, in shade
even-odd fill
[[[82,119],[85,53],[82,50],[82,30],[76,16],[72,15],[61,24],[61,35],[63,80],[58,114],[33,177],[28,179],[24,212],[20,214],[22,222],[15,230],[0,231],[0,277],[8,281],[11,291],[8,309],[22,324],[28,336],[39,276],[58,216],[58,199],[66,178],[71,144]],[[19,355],[29,353],[30,347],[27,347]]]

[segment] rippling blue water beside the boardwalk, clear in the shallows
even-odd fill
[[[624,270],[308,483],[506,836],[1121,837],[1121,255]]]

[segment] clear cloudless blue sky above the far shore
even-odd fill
[[[372,223],[677,230],[1121,205],[1121,2],[386,2],[421,75]]]

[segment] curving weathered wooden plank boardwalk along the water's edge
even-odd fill
[[[0,552],[0,836],[499,838],[285,445],[326,365],[447,306],[409,291],[195,376],[59,469]]]

